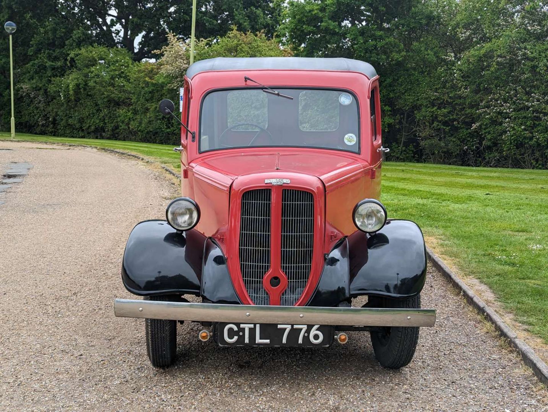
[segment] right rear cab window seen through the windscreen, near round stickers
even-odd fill
[[[299,94],[299,129],[304,132],[339,129],[340,91],[306,90]]]

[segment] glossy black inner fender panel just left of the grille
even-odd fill
[[[204,301],[239,305],[232,285],[226,258],[214,240],[208,239],[204,248],[202,291]]]

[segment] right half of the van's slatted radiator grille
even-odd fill
[[[310,275],[314,236],[312,193],[284,189],[282,193],[282,271],[287,289],[281,305],[293,306],[302,295]]]

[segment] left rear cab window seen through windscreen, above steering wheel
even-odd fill
[[[266,93],[256,90],[234,90],[226,95],[227,124],[232,130],[257,130],[252,125],[233,127],[239,123],[268,126],[268,99]]]

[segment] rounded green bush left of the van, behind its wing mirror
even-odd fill
[[[124,49],[89,46],[73,51],[70,69],[53,80],[50,116],[55,134],[175,143],[173,121],[158,113],[163,97],[175,98],[157,65],[136,63]]]

